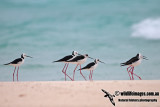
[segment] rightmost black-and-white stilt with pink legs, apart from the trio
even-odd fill
[[[138,53],[135,57],[132,57],[131,59],[129,59],[128,61],[126,61],[124,63],[121,63],[121,66],[129,66],[127,68],[127,72],[130,77],[130,80],[134,80],[133,75],[137,76],[141,80],[141,77],[136,75],[135,73],[133,73],[133,71],[134,71],[135,66],[138,66],[141,64],[142,59],[148,60],[146,56],[143,56],[143,55],[141,55],[141,53]],[[132,77],[130,76],[130,73],[131,73]]]

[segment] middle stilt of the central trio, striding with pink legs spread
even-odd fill
[[[75,58],[73,58],[72,60],[69,60],[67,62],[72,63],[72,64],[76,64],[77,66],[75,67],[74,71],[73,71],[73,81],[74,81],[74,75],[75,75],[75,71],[77,69],[78,66],[80,66],[80,74],[82,75],[82,77],[86,80],[86,78],[83,76],[82,72],[81,72],[81,64],[85,63],[87,58],[91,58],[88,56],[88,54],[84,54],[84,55],[79,55],[76,56]],[[91,58],[94,59],[94,58]]]

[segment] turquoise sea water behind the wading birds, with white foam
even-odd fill
[[[120,67],[137,53],[135,73],[160,79],[159,0],[1,0],[0,81],[12,81],[14,67],[4,66],[26,53],[20,81],[63,81],[63,63],[52,63],[73,50],[106,62],[94,80],[129,80]],[[85,64],[93,60],[88,59]],[[75,65],[69,65],[72,75]],[[83,71],[88,79],[89,71]],[[76,80],[83,80],[76,71]]]

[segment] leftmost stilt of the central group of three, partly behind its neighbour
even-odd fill
[[[77,51],[72,51],[72,55],[67,55],[67,56],[65,56],[65,57],[63,57],[63,58],[61,58],[61,59],[59,59],[59,60],[57,60],[57,61],[53,61],[53,63],[54,63],[54,62],[63,62],[63,63],[65,63],[65,65],[64,65],[64,67],[63,67],[63,69],[62,69],[62,72],[65,74],[65,81],[66,81],[66,76],[68,76],[68,77],[72,80],[72,78],[71,78],[69,75],[67,75],[67,73],[66,73],[66,72],[67,72],[68,65],[69,65],[69,63],[68,63],[67,61],[75,58],[77,55],[78,55],[78,52],[77,52]],[[65,70],[65,71],[64,71],[64,70]]]

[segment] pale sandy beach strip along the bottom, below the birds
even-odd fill
[[[0,107],[113,107],[101,89],[159,92],[160,80],[0,82]],[[120,96],[117,107],[160,107],[159,96]],[[119,102],[119,99],[157,99],[157,102]]]

